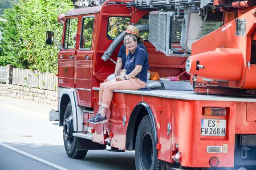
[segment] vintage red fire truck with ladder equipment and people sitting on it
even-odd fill
[[[135,150],[137,170],[256,169],[255,0],[108,0],[65,13],[58,111],[66,153]],[[165,90],[115,90],[107,123],[90,124],[127,25],[145,35]],[[120,33],[120,34],[119,34]],[[148,38],[147,38],[148,37]]]

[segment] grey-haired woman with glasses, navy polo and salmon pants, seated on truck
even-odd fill
[[[89,123],[106,123],[106,111],[110,107],[113,98],[113,90],[138,90],[146,86],[148,55],[142,47],[137,44],[134,35],[127,35],[124,44],[129,50],[125,62],[125,74],[117,76],[115,79],[102,83],[99,92],[99,112]]]

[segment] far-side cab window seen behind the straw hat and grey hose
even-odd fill
[[[115,39],[119,34],[126,30],[130,25],[129,17],[110,16],[108,21],[107,38],[110,40]]]

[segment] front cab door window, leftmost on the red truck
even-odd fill
[[[77,18],[66,20],[64,49],[75,49],[77,39]]]

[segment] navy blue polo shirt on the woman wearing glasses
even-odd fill
[[[146,51],[139,46],[137,46],[133,54],[129,52],[126,58],[126,63],[124,67],[124,69],[126,69],[126,75],[129,75],[130,72],[134,70],[136,65],[141,65],[142,69],[135,77],[146,83],[148,70],[148,55]]]

